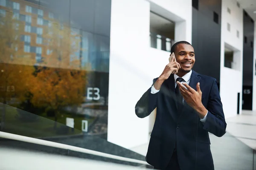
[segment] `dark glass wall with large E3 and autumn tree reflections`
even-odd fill
[[[1,131],[106,139],[111,0],[0,2]]]

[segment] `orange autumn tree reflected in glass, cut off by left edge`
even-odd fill
[[[20,48],[23,26],[10,12],[0,16],[0,102],[4,104],[13,99],[24,101],[34,78],[32,60]]]

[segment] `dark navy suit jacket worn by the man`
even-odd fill
[[[157,169],[167,167],[175,143],[181,170],[214,169],[208,132],[221,137],[226,133],[227,124],[216,79],[192,71],[189,86],[196,90],[198,82],[202,103],[208,110],[206,122],[200,121],[196,111],[186,101],[181,113],[177,113],[173,74],[163,82],[158,93],[151,94],[149,88],[135,106],[135,113],[140,118],[157,108],[146,156],[146,161]]]

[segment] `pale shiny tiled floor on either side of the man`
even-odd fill
[[[256,111],[242,111],[241,115],[226,119],[226,122],[227,133],[223,137],[209,135],[215,169],[253,169],[253,161],[256,165],[256,151],[253,151],[256,150]],[[148,143],[131,148],[144,156],[147,149]]]

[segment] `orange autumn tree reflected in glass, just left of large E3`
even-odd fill
[[[36,70],[34,85],[30,88],[31,102],[34,106],[54,111],[58,121],[61,109],[66,106],[76,107],[84,102],[86,71],[81,69],[81,36],[69,26],[63,26],[56,20],[44,26],[43,59]],[[55,124],[56,125],[56,124]]]

